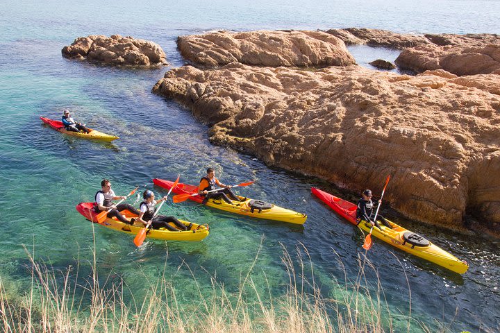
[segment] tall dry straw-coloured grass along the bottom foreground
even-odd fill
[[[380,281],[376,281],[375,296],[368,291],[363,258],[359,260],[356,280],[349,280],[347,274],[342,282],[333,280],[335,296],[324,299],[315,284],[313,263],[306,248],[297,248],[297,258],[292,259],[283,246],[282,259],[289,278],[285,296],[274,299],[270,290],[256,287],[252,272],[257,254],[247,274],[242,275],[238,292],[228,293],[212,277],[210,295],[203,294],[197,282],[199,298],[186,309],[178,305],[176,290],[165,276],[149,281],[149,292],[140,302],[127,301],[123,298],[126,285],[123,281],[107,280],[99,285],[95,252],[92,275],[83,286],[69,279],[72,270],[78,275],[78,264],[57,273],[63,275],[58,279],[53,268],[35,262],[33,256],[28,253],[32,283],[24,296],[16,300],[8,296],[0,279],[2,332],[373,333],[410,332],[410,323],[422,332],[431,332],[403,315],[403,321],[407,321],[404,330],[401,331],[401,323],[398,329],[394,328]],[[342,264],[340,260],[339,263]],[[190,270],[187,265],[185,268]],[[194,273],[192,278],[196,281]]]

